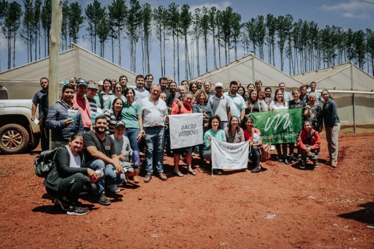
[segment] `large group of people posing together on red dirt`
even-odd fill
[[[230,143],[250,142],[249,157],[253,173],[260,172],[261,131],[254,127],[251,113],[285,108],[303,108],[304,124],[297,147],[300,168],[306,161],[317,164],[320,148],[319,132],[323,122],[328,140],[329,162],[337,166],[337,137],[340,122],[337,105],[328,90],[315,91],[316,83],[285,91],[285,84],[272,96],[271,88],[263,88],[261,81],[249,84],[248,93],[240,82],[232,81],[224,92],[222,83],[202,80],[179,85],[172,77],[161,77],[153,83],[151,74],[137,75],[136,87],[127,87],[127,77],[121,75],[118,82],[104,79],[93,81],[72,78],[62,87],[60,100],[48,107],[48,79],[40,79],[41,90],[35,94],[32,119],[39,107],[39,125],[42,150],[49,149],[48,134],[51,130],[51,148],[57,148],[56,167],[45,179],[48,193],[68,214],[82,215],[88,210],[78,201],[79,193],[94,193],[101,205],[110,205],[105,190],[118,192],[118,186],[126,179],[139,183],[139,155],[145,152],[144,182],[152,175],[167,180],[164,174],[164,151],[173,155],[173,174],[183,177],[179,161],[185,159],[187,173],[195,176],[192,155],[199,153],[211,161],[211,138]],[[101,89],[101,90],[100,90]],[[323,101],[321,108],[319,102]],[[204,143],[179,149],[170,149],[168,115],[203,113]],[[287,147],[291,162],[295,161],[294,143],[275,144],[278,158],[288,164]],[[84,155],[84,156],[83,156]],[[129,160],[132,157],[132,161]],[[209,164],[208,164],[209,165]],[[222,174],[214,170],[214,174]]]

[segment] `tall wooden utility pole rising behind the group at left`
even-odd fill
[[[49,87],[48,105],[58,101],[58,69],[60,65],[60,37],[62,25],[62,0],[52,0],[51,31],[49,33],[51,46],[49,48]],[[51,138],[51,136],[50,136]],[[51,144],[51,142],[49,143]]]

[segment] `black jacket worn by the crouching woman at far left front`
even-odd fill
[[[55,157],[55,165],[45,178],[43,184],[53,190],[58,191],[62,178],[70,177],[76,173],[87,175],[87,168],[83,168],[84,156],[80,156],[80,168],[70,167],[70,153],[66,146],[58,147]]]

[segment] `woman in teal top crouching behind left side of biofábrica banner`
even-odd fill
[[[212,161],[212,137],[226,142],[226,134],[224,130],[221,129],[221,118],[218,115],[212,115],[208,120],[208,130],[204,135],[204,147],[202,151],[203,158],[209,162]],[[222,170],[213,169],[213,174],[222,175]]]

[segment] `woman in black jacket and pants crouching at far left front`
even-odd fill
[[[94,192],[95,182],[99,177],[90,169],[83,167],[84,156],[80,153],[83,147],[83,135],[73,135],[69,143],[58,147],[56,166],[52,168],[43,184],[49,194],[56,197],[59,205],[69,215],[84,215],[89,211],[82,208],[78,201],[82,192]]]

